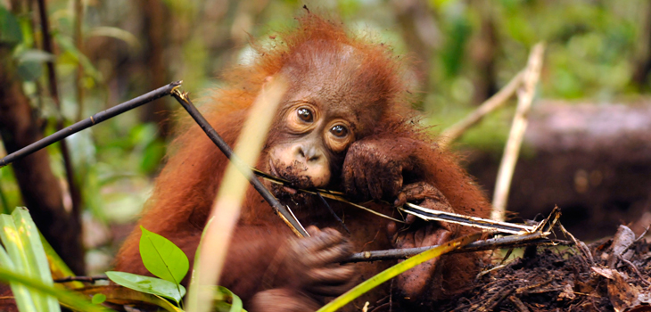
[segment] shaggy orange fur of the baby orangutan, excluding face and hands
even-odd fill
[[[416,114],[409,108],[410,96],[406,92],[403,79],[404,62],[391,55],[386,45],[372,44],[368,38],[350,36],[339,22],[307,13],[299,19],[298,27],[281,32],[269,43],[252,43],[258,54],[257,58],[251,65],[238,66],[227,71],[224,75],[227,87],[216,91],[210,97],[210,107],[204,111],[204,116],[224,137],[227,144],[233,146],[243,120],[247,117],[248,109],[265,78],[276,75],[284,66],[293,62],[298,62],[296,66],[299,70],[307,70],[307,66],[301,69],[303,63],[297,60],[301,57],[309,58],[309,53],[313,50],[322,51],[335,45],[351,46],[363,55],[361,66],[365,70],[358,77],[350,79],[354,80],[357,86],[364,86],[368,90],[368,107],[362,109],[380,114],[373,117],[374,120],[367,121],[367,124],[375,126],[359,132],[359,139],[367,137],[392,140],[396,143],[395,149],[391,147],[394,153],[400,153],[401,145],[398,143],[405,143],[405,146],[415,144],[419,151],[418,162],[421,164],[418,169],[423,172],[424,180],[440,189],[458,213],[488,217],[488,201],[467,177],[466,172],[458,167],[456,157],[441,150],[428,137],[425,129],[414,121]],[[367,119],[372,118],[369,117],[372,116],[370,111],[364,116],[367,116]],[[188,121],[185,123],[187,125]],[[276,117],[275,124],[279,123],[280,120]],[[275,142],[275,130],[276,128],[272,127],[267,148]],[[155,189],[146,203],[140,225],[168,237],[193,260],[227,159],[199,127],[186,126],[182,131],[170,148],[172,152],[161,171],[161,176],[156,180]],[[265,160],[263,157],[260,163]],[[363,211],[343,204],[334,203],[333,208],[351,229],[350,241],[353,242],[355,251],[391,248],[389,239],[384,237],[385,235],[378,235],[379,232],[386,232],[383,219],[375,219]],[[388,207],[375,208],[387,214],[395,214],[395,210]],[[329,214],[324,212],[324,209],[306,207],[295,212],[305,226],[340,227],[337,222],[329,219]],[[461,229],[455,235],[472,231],[474,230]],[[139,237],[140,231],[136,228],[119,251],[116,269],[148,274],[138,253]],[[292,237],[293,234],[273,214],[268,204],[251,188],[247,193],[242,217],[228,252],[227,267],[221,283],[242,297],[246,304],[256,293],[272,287],[269,283],[281,283],[279,280],[283,279],[291,280],[292,276],[270,273],[269,267],[273,267],[272,260],[276,253],[280,252],[280,247]],[[441,266],[445,267],[441,269],[445,272],[438,277],[442,279],[442,292],[437,296],[442,297],[441,294],[449,293],[466,283],[476,270],[477,260],[478,257],[474,255],[446,259],[448,264]],[[357,264],[356,279],[361,281],[389,265],[391,263]],[[455,268],[447,269],[450,267]],[[276,276],[276,280],[271,278],[272,282],[269,282],[264,276]],[[358,300],[358,305],[363,305],[364,300],[372,300],[370,298],[374,296],[376,300],[388,292],[387,288],[375,291],[375,294]]]

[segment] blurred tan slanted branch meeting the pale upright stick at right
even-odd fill
[[[523,72],[518,72],[511,81],[508,82],[507,86],[504,86],[499,90],[497,94],[493,94],[490,98],[482,105],[477,107],[470,114],[466,115],[466,118],[457,121],[456,124],[447,127],[441,133],[441,139],[439,140],[439,145],[445,147],[450,143],[457,140],[457,138],[463,135],[470,127],[473,127],[476,123],[481,121],[484,116],[488,115],[491,111],[495,111],[507,103],[507,100],[511,95],[515,94],[518,86],[522,83]]]

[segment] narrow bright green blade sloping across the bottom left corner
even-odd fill
[[[0,252],[2,254],[2,252]],[[2,257],[2,256],[0,256]],[[3,263],[4,265],[4,263]],[[21,285],[29,286],[29,291],[38,291],[40,293],[45,293],[48,295],[52,295],[56,297],[62,305],[65,305],[67,307],[70,307],[76,311],[85,311],[85,312],[101,312],[101,311],[112,311],[109,308],[104,308],[102,306],[97,306],[92,304],[90,301],[88,301],[86,298],[79,296],[78,293],[74,291],[66,291],[63,289],[59,289],[54,287],[53,285],[46,285],[45,283],[26,276],[26,275],[21,275],[18,273],[15,273],[11,269],[7,269],[6,267],[0,267],[0,281],[3,281],[5,283],[19,283]],[[12,288],[13,291],[13,288]],[[16,298],[16,302],[18,303],[19,297],[16,295],[16,293],[13,293],[13,296]],[[51,309],[24,309],[21,308],[21,305],[19,304],[19,310],[21,312],[27,312],[27,311],[37,311],[37,312],[49,312],[53,311]],[[33,307],[33,305],[32,305]],[[57,309],[58,311],[58,309]]]

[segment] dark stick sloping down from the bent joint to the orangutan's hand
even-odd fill
[[[215,128],[210,126],[210,123],[208,120],[203,118],[203,115],[201,112],[199,112],[194,104],[190,101],[190,98],[187,97],[187,94],[181,93],[178,90],[175,90],[172,92],[172,96],[177,99],[178,103],[180,103],[185,111],[187,111],[190,116],[196,121],[197,124],[199,124],[199,127],[202,127],[203,132],[208,135],[212,143],[217,145],[219,150],[226,155],[226,157],[231,160],[231,162],[235,165],[235,168],[238,168],[240,172],[244,175],[244,177],[247,177],[249,179],[249,182],[251,185],[253,185],[253,188],[255,188],[258,193],[262,196],[262,198],[265,199],[271,205],[271,207],[276,211],[276,214],[278,217],[283,219],[284,223],[289,226],[294,234],[296,234],[299,237],[309,237],[309,234],[303,226],[301,226],[301,223],[299,220],[294,217],[292,211],[289,209],[289,207],[283,206],[280,201],[272,195],[267,187],[262,185],[259,179],[253,176],[253,172],[251,171],[251,168],[246,166],[240,160],[235,153],[233,153],[233,150],[231,149],[230,146],[224,141],[224,139],[221,138],[221,136],[215,131]]]

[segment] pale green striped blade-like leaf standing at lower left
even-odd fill
[[[31,216],[29,216],[28,210],[21,207],[13,209],[12,218],[13,223],[18,229],[19,238],[25,248],[24,255],[28,263],[28,271],[26,273],[34,276],[46,285],[52,285],[52,273],[50,273],[50,266],[47,263],[43,243],[38,234],[37,226],[34,224]],[[37,308],[40,308],[39,310],[61,311],[59,303],[54,297],[43,293],[37,293],[33,297],[34,300],[40,301],[37,302]]]

